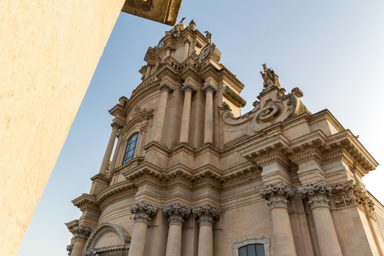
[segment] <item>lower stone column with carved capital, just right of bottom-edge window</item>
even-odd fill
[[[296,256],[295,243],[291,223],[288,216],[288,198],[295,193],[289,186],[282,182],[275,185],[268,185],[259,190],[260,197],[268,201],[271,210],[272,229],[275,237],[274,244],[276,255]]]

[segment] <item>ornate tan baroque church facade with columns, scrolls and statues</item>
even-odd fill
[[[241,115],[244,85],[195,25],[149,47],[142,82],[109,110],[99,173],[72,201],[82,214],[66,223],[68,255],[383,255],[384,208],[361,181],[374,158],[265,64]]]

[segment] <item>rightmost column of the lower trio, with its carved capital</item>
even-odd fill
[[[214,219],[220,215],[220,210],[204,204],[202,206],[192,209],[195,217],[199,216],[199,247],[197,249],[197,256],[213,256],[213,224]]]

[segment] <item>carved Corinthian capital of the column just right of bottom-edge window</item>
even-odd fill
[[[283,185],[280,181],[274,185],[268,185],[266,188],[259,190],[260,197],[268,201],[270,209],[275,207],[288,208],[288,198],[295,194],[295,191],[288,185]]]

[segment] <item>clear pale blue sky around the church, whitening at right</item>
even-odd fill
[[[382,0],[183,0],[178,21],[186,17],[188,25],[194,19],[197,29],[212,33],[222,52],[221,63],[245,85],[241,96],[247,105],[242,113],[253,108],[263,88],[259,71],[266,63],[287,92],[299,87],[304,93],[301,100],[312,113],[328,108],[384,164],[383,13]],[[157,45],[170,28],[120,14],[19,256],[66,255],[71,234],[64,222],[81,216],[71,200],[89,192],[89,178],[99,171],[111,134],[113,116],[107,110],[120,96],[131,96],[141,82],[138,70],[146,65],[143,58],[148,47]],[[379,166],[363,182],[384,203],[383,171]]]

